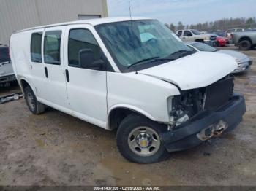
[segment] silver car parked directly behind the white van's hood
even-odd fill
[[[249,58],[241,52],[234,50],[218,50],[201,42],[186,42],[186,44],[196,52],[218,52],[232,56],[236,60],[236,63],[238,63],[238,67],[232,72],[233,74],[248,71],[249,67],[252,65],[252,58]]]

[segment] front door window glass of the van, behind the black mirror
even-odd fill
[[[68,56],[69,66],[86,68],[86,63],[80,63],[80,53],[90,50],[94,62],[102,59],[102,50],[94,39],[91,31],[84,28],[72,29],[69,32]]]

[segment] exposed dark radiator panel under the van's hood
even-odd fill
[[[206,87],[203,109],[215,110],[224,105],[233,95],[233,77],[227,77]]]

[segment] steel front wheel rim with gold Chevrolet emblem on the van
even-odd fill
[[[141,126],[129,133],[128,145],[136,155],[148,157],[159,150],[161,141],[155,130]]]

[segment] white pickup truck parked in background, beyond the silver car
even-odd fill
[[[215,34],[201,34],[200,31],[195,29],[178,30],[176,34],[182,41],[195,42],[211,42],[215,41],[217,37]]]

